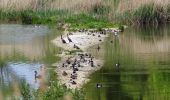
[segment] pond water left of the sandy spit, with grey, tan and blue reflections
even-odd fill
[[[43,86],[34,71],[44,76],[44,82],[47,80],[46,69],[56,62],[53,56],[59,50],[50,42],[56,34],[47,26],[0,25],[1,100],[20,97],[20,84],[27,83],[33,89]]]

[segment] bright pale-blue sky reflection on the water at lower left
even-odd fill
[[[25,79],[32,88],[38,89],[39,80],[35,79],[34,71],[39,73],[41,70],[40,66],[42,65],[31,63],[9,63],[7,66],[8,74],[11,74],[13,77],[19,76],[17,78]]]

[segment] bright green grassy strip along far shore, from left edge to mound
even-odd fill
[[[22,23],[22,24],[50,24],[58,25],[69,23],[71,28],[102,28],[114,27],[113,22],[107,18],[95,18],[87,13],[70,14],[68,11],[2,11],[0,10],[0,21],[4,23]],[[117,24],[118,25],[118,24]]]

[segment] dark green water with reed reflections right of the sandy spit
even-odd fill
[[[170,99],[170,26],[129,28],[104,47],[104,67],[84,86],[87,100]]]

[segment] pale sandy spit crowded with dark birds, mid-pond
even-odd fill
[[[117,28],[110,29],[117,31]],[[89,76],[97,70],[100,70],[104,64],[101,59],[94,58],[87,49],[93,45],[98,45],[104,42],[104,39],[108,37],[108,31],[79,31],[79,32],[68,32],[64,31],[64,34],[60,37],[55,38],[52,42],[63,48],[64,50],[82,50],[82,52],[75,52],[75,54],[69,54],[69,52],[63,51],[59,56],[61,61],[53,64],[56,67],[56,73],[61,85],[65,85],[70,89],[80,89],[90,79]],[[68,34],[68,35],[67,35]],[[68,38],[72,42],[69,42]],[[65,40],[63,43],[62,40]],[[75,45],[78,48],[75,48]],[[96,48],[96,50],[99,48]],[[84,59],[84,61],[82,61]],[[70,63],[67,63],[67,62]],[[73,66],[74,65],[74,66]],[[77,69],[75,71],[74,69]],[[73,77],[74,76],[74,77]]]

